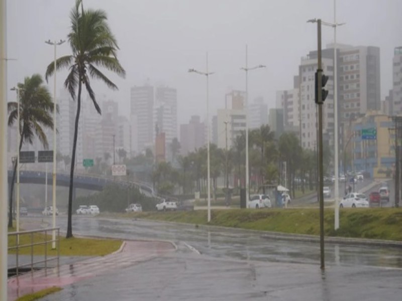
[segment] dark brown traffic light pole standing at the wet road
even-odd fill
[[[318,105],[318,200],[320,203],[320,252],[321,269],[325,268],[324,260],[324,175],[323,175],[323,70],[321,60],[321,19],[317,20],[318,33],[318,68],[317,68],[317,98]]]

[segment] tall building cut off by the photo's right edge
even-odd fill
[[[395,47],[392,59],[392,102],[390,113],[402,113],[402,47]]]

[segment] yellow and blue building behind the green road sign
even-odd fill
[[[351,159],[355,172],[367,171],[371,177],[385,178],[386,172],[393,170],[394,134],[389,130],[393,126],[389,116],[378,111],[368,111],[365,116],[352,122]],[[369,128],[376,129],[376,139],[362,139],[362,130]]]

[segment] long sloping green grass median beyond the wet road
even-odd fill
[[[283,233],[320,234],[319,210],[309,208],[212,210],[210,223],[207,223],[206,210],[143,212],[123,216]],[[338,230],[334,230],[334,209],[325,209],[324,223],[327,236],[402,241],[401,208],[341,209]]]

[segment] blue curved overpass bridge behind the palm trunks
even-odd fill
[[[8,181],[11,182],[13,177],[13,171],[8,171]],[[29,184],[45,184],[46,182],[46,172],[43,171],[20,171],[20,183]],[[47,173],[47,184],[52,185],[53,178],[52,173]],[[112,178],[103,178],[89,175],[74,175],[74,190],[77,188],[102,191],[104,187],[108,184],[118,184],[123,187],[137,188],[140,192],[148,197],[154,196],[155,192],[153,188],[144,182],[133,182],[133,181],[123,181],[115,180]],[[70,175],[65,173],[56,174],[56,186],[69,187],[70,185]]]

